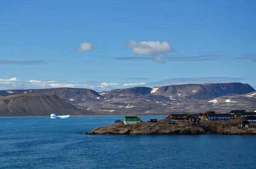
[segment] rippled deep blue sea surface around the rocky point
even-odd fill
[[[83,134],[117,119],[2,117],[0,169],[256,169],[256,136]]]

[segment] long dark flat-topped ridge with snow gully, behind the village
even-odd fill
[[[162,87],[133,87],[128,89],[116,89],[102,96],[128,96],[138,97],[143,95],[160,95],[173,100],[209,100],[225,95],[242,95],[255,90],[244,83],[209,83],[209,84],[184,84]]]

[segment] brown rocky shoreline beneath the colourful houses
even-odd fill
[[[190,126],[185,120],[175,120],[169,124],[168,120],[159,120],[157,123],[140,122],[132,125],[122,123],[99,127],[85,134],[88,135],[201,135],[214,133],[222,135],[256,135],[256,127],[238,128],[241,119],[229,121],[201,120],[200,126]]]

